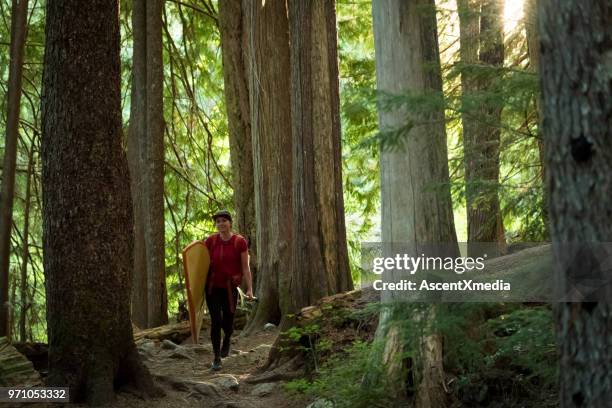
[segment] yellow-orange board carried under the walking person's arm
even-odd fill
[[[204,318],[204,286],[208,277],[210,255],[203,241],[194,241],[183,249],[183,271],[185,273],[185,290],[187,291],[187,308],[189,326],[194,344],[198,343],[202,319]]]

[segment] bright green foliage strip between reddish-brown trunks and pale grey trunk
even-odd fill
[[[339,0],[338,55],[342,121],[342,184],[353,280],[359,279],[361,242],[379,241],[379,149],[364,144],[378,132],[371,3]]]

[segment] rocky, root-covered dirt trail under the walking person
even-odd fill
[[[203,331],[200,344],[174,347],[171,343],[139,344],[143,361],[166,392],[166,397],[144,401],[129,393],[117,394],[115,406],[134,408],[156,407],[305,407],[310,401],[296,400],[283,391],[282,382],[250,384],[257,367],[263,364],[278,332],[263,331],[249,337],[239,332],[232,338],[232,350],[223,359],[223,368],[212,371],[212,348],[208,331]],[[268,390],[266,390],[266,388]],[[267,391],[267,392],[266,392]]]

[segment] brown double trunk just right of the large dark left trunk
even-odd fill
[[[134,283],[137,286],[133,311],[136,324],[143,328],[168,323],[164,228],[162,10],[163,0],[134,0],[134,100],[130,119],[130,139],[133,140],[129,143],[130,148],[136,150],[130,153],[131,172],[135,175],[132,195],[134,201],[139,201],[134,204],[134,213],[139,217],[135,221],[134,235],[137,241],[143,241],[136,244],[134,258]],[[142,294],[145,290],[146,294]]]

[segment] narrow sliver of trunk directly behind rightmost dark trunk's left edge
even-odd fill
[[[526,0],[525,1],[525,33],[527,35],[527,49],[529,52],[529,69],[534,73],[540,72],[540,36],[538,35],[538,0]],[[542,178],[542,194],[543,194],[543,205],[542,208],[542,222],[544,223],[545,235],[544,238],[549,237],[549,217],[548,217],[548,191],[546,189],[546,159],[544,153],[544,141],[542,138],[542,112],[540,107],[540,97],[536,95],[536,114],[538,132],[536,137],[538,138],[538,153],[540,156],[540,177]]]

